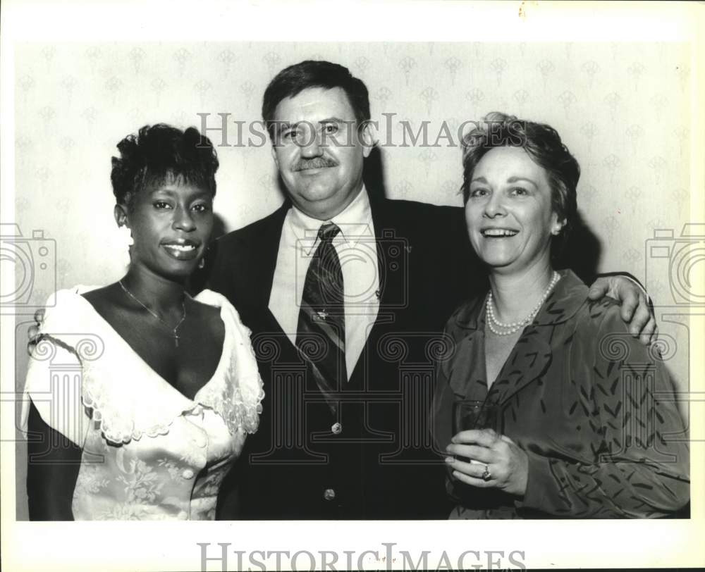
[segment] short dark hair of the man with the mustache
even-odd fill
[[[281,70],[264,90],[262,118],[270,137],[274,128],[274,111],[279,102],[300,94],[308,87],[340,87],[350,100],[357,123],[369,120],[369,94],[362,80],[337,63],[305,60]]]

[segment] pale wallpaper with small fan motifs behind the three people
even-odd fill
[[[246,135],[260,119],[271,77],[307,58],[342,63],[367,84],[381,140],[396,144],[381,148],[391,198],[462,204],[457,137],[402,147],[401,121],[414,132],[429,121],[431,144],[443,122],[455,130],[489,111],[553,125],[582,167],[578,205],[601,241],[599,270],[644,280],[648,267],[649,292],[668,301],[668,266],[645,244],[654,229],[680,235],[689,220],[690,47],[559,42],[16,45],[16,222],[25,237],[42,230],[56,241],[56,283],[37,273],[32,299],[121,277],[109,173],[122,137],[160,121],[199,127],[197,113],[216,127],[217,113],[231,113],[237,143],[234,122],[247,122]],[[390,132],[383,113],[395,114]],[[218,149],[225,230],[281,203],[269,144],[254,139]],[[678,341],[670,363],[687,384],[687,328],[662,321],[661,331]],[[17,355],[21,378],[26,355]]]

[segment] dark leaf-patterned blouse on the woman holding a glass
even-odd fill
[[[439,364],[436,445],[453,436],[454,399],[496,404],[500,430],[528,455],[524,497],[448,477],[450,518],[658,518],[689,500],[689,446],[658,344],[642,345],[615,301],[561,280],[487,390],[484,299],[450,316]]]

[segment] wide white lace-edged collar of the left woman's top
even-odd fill
[[[90,290],[94,288],[76,286],[52,294],[40,331],[49,340],[59,340],[78,358],[82,403],[92,409],[92,418],[106,440],[120,444],[142,435],[166,435],[176,418],[198,406],[219,414],[231,435],[240,430],[255,433],[264,398],[262,379],[250,330],[225,297],[211,290],[195,297],[220,308],[225,336],[216,370],[194,399],[189,399],[154,371],[81,296]],[[83,342],[92,343],[93,349],[86,351],[90,344]]]

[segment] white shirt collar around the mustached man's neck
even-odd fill
[[[302,243],[307,254],[312,254],[318,246],[318,230],[321,225],[335,223],[341,229],[340,236],[353,246],[362,237],[374,236],[372,227],[372,209],[369,206],[367,189],[362,189],[348,206],[330,220],[319,220],[291,206],[292,216],[289,219],[296,238]]]

